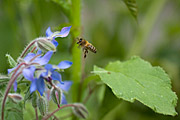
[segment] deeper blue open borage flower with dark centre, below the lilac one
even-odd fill
[[[34,77],[34,73],[36,70],[34,66],[31,66],[29,67],[29,69],[24,70],[23,71],[24,77],[31,81],[30,92],[32,93],[35,90],[38,90],[42,96],[45,90],[44,80],[49,82],[51,85],[53,85],[52,80],[57,80],[60,82],[60,84],[64,84],[62,82],[61,74],[55,70],[66,69],[66,68],[69,68],[71,65],[72,65],[72,62],[70,61],[62,61],[57,66],[46,64],[44,67],[45,72],[44,71],[41,72],[41,74],[37,78]]]

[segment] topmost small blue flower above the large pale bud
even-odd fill
[[[68,34],[70,32],[70,29],[71,29],[71,26],[63,27],[60,32],[58,32],[58,31],[57,32],[52,32],[51,28],[48,27],[48,29],[46,30],[46,37],[53,38],[52,43],[57,47],[58,42],[55,40],[55,38],[68,36]]]

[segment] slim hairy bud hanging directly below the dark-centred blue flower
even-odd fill
[[[61,103],[61,90],[59,88],[52,87],[51,89],[51,98],[60,107]]]

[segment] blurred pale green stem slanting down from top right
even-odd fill
[[[153,26],[160,15],[167,0],[154,0],[148,7],[148,11],[144,16],[141,24],[139,24],[138,32],[130,48],[128,57],[132,55],[141,55],[143,52],[144,44],[151,35]]]

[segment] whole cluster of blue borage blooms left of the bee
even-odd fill
[[[70,61],[61,61],[58,65],[48,64],[53,51],[42,52],[43,47],[50,46],[53,44],[56,48],[58,42],[55,40],[57,37],[66,37],[70,32],[70,27],[64,27],[60,32],[52,32],[50,27],[46,30],[46,37],[38,38],[33,43],[38,43],[37,52],[28,53],[24,58],[20,58],[18,64],[12,68],[8,69],[8,74],[11,74],[11,78],[14,78],[14,90],[17,90],[17,78],[20,74],[24,76],[25,79],[31,81],[30,93],[38,91],[42,96],[46,87],[46,84],[53,88],[60,89],[61,91],[68,91],[72,85],[71,81],[62,81],[61,74],[57,72],[58,70],[64,70],[72,65]],[[40,42],[39,42],[40,41]],[[28,49],[30,47],[27,47]],[[25,50],[28,51],[28,50]],[[59,84],[55,84],[52,80],[56,80]],[[66,104],[66,99],[61,92],[61,103]]]

